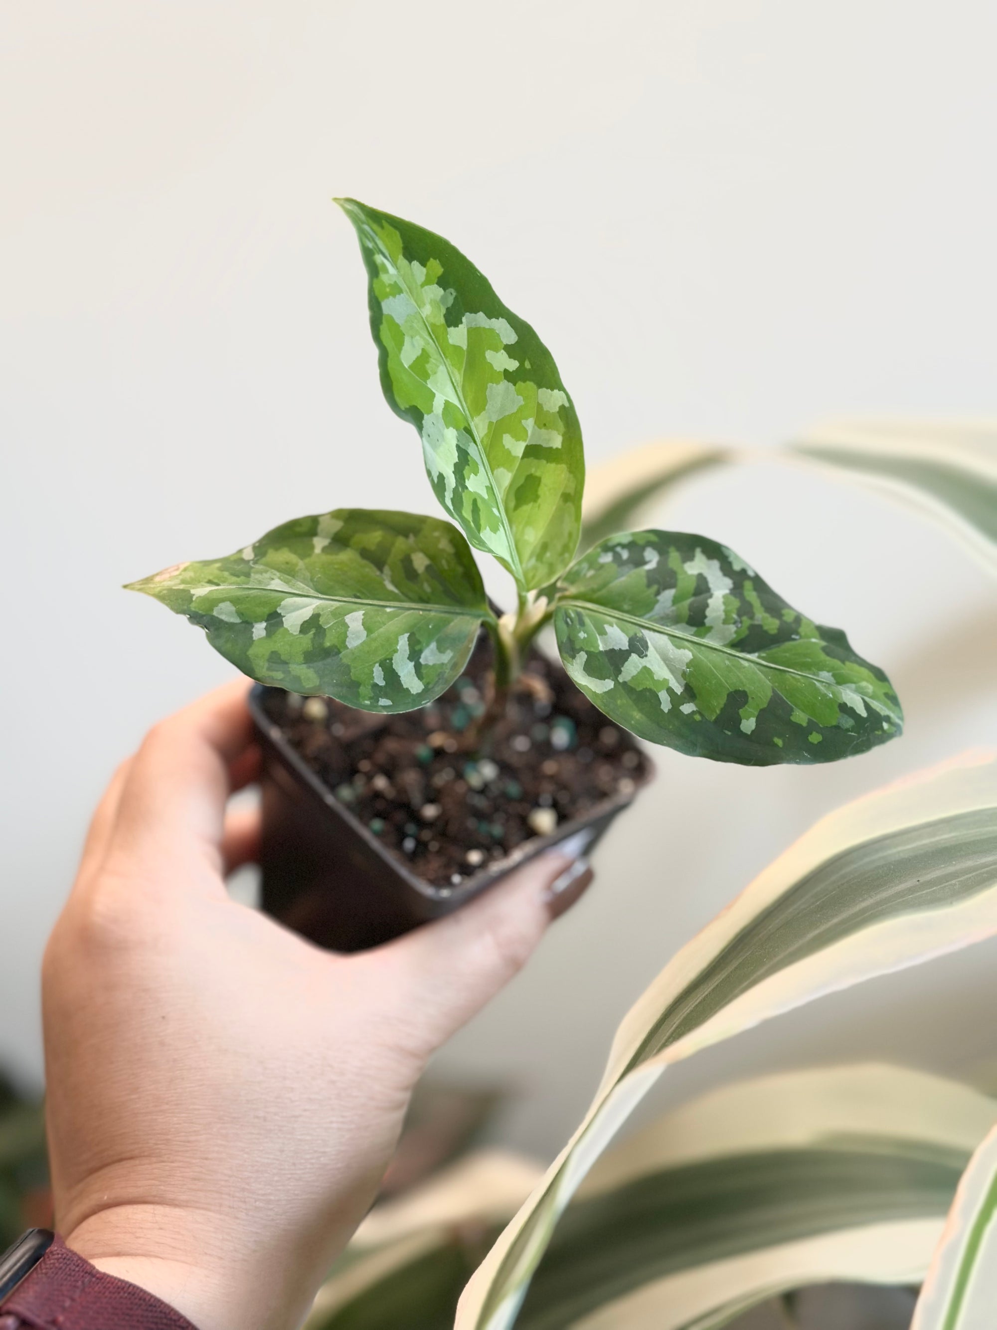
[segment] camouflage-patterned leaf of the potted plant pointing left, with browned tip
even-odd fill
[[[362,508],[298,517],[129,591],[186,614],[250,678],[384,713],[449,688],[492,618],[455,527]]]

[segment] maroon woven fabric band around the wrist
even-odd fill
[[[152,1293],[104,1274],[56,1238],[0,1307],[0,1330],[194,1330]]]

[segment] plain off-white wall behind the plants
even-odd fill
[[[332,194],[445,233],[554,350],[598,460],[827,414],[994,408],[997,9],[986,0],[0,4],[0,1061],[88,813],[229,666],[122,581],[343,503],[432,511],[380,399]],[[815,817],[997,737],[994,588],[939,532],[775,466],[669,524],[732,544],[884,665],[908,733],[828,769],[662,753],[600,884],[441,1056],[552,1150],[618,1017]],[[997,947],[678,1069],[892,1056],[992,1076]]]

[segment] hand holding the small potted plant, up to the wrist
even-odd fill
[[[549,854],[384,947],[320,951],[225,888],[255,853],[257,815],[226,802],[258,761],[242,681],[157,725],[97,809],[43,972],[60,1232],[199,1330],[300,1322],[427,1059],[592,878]]]

